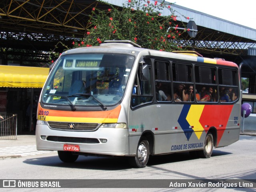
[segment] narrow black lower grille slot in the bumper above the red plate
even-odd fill
[[[48,136],[48,141],[53,142],[65,142],[65,143],[88,143],[96,144],[100,143],[96,138],[80,138],[80,137],[60,137],[60,136]]]

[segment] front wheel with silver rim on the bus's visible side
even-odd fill
[[[150,154],[149,143],[146,138],[141,138],[138,146],[136,156],[130,159],[130,164],[136,168],[146,167]]]

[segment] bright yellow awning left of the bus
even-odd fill
[[[49,68],[0,65],[0,87],[42,88]]]

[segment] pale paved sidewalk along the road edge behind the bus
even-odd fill
[[[256,131],[244,130],[240,135],[256,136]],[[0,160],[49,153],[57,155],[56,151],[36,150],[36,136],[34,134],[18,135],[16,140],[0,140]]]

